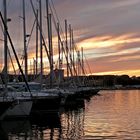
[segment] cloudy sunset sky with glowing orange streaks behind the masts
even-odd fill
[[[33,0],[35,1],[35,0]],[[45,0],[42,0],[44,3]],[[140,75],[140,0],[53,0],[61,26],[67,19],[77,46],[84,48],[93,74]],[[21,54],[22,15],[20,0],[7,0],[9,32]],[[36,3],[35,3],[36,5]],[[45,4],[43,20],[45,22]],[[3,12],[2,0],[0,10]],[[34,16],[26,0],[27,31]],[[46,27],[44,26],[44,31]],[[0,28],[0,38],[3,38]],[[55,38],[55,33],[54,33]],[[54,39],[55,40],[55,39]],[[3,42],[0,41],[0,44]],[[54,42],[55,43],[55,42]],[[31,40],[29,53],[35,44]],[[1,45],[2,46],[2,45]],[[0,53],[2,59],[2,51]]]

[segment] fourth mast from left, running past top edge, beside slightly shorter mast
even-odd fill
[[[43,78],[43,46],[42,46],[42,3],[41,0],[39,1],[39,11],[40,11],[40,84],[42,88],[42,78]]]

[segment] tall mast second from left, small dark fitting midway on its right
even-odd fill
[[[26,45],[25,0],[22,0],[22,2],[23,2],[23,37],[24,37],[25,77],[26,77],[26,79],[28,79],[28,60],[27,60],[28,56],[27,56],[27,45]]]

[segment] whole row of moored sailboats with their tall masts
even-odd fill
[[[4,104],[1,110],[1,119],[5,118],[24,118],[30,117],[30,114],[36,112],[42,112],[45,110],[59,109],[61,106],[65,106],[65,102],[71,102],[73,100],[83,100],[84,98],[90,98],[92,95],[98,93],[98,89],[89,87],[85,83],[85,78],[80,79],[80,75],[85,75],[84,70],[84,58],[83,49],[81,52],[76,50],[76,45],[74,42],[74,35],[71,26],[68,27],[67,20],[65,20],[65,36],[66,50],[62,44],[62,37],[59,30],[59,23],[57,24],[56,32],[58,38],[58,67],[54,68],[53,59],[53,46],[52,46],[52,22],[55,24],[55,20],[52,19],[54,16],[52,11],[53,5],[49,5],[49,1],[46,1],[46,14],[47,14],[47,26],[48,26],[48,46],[44,40],[43,29],[42,29],[42,2],[38,3],[39,9],[35,10],[35,5],[32,0],[30,0],[30,5],[32,7],[32,14],[35,17],[36,23],[36,37],[40,35],[40,39],[36,38],[36,62],[33,67],[34,75],[31,75],[28,69],[28,51],[27,51],[27,35],[26,33],[26,11],[25,11],[25,0],[22,0],[22,16],[23,16],[23,58],[19,59],[14,42],[10,36],[8,30],[8,20],[7,20],[7,1],[3,0],[3,13],[0,11],[1,24],[4,35],[4,67],[1,73],[1,95],[3,98],[11,98],[11,102],[1,101]],[[38,17],[38,12],[40,18]],[[53,21],[54,20],[54,21]],[[69,32],[68,32],[69,30]],[[68,39],[69,36],[69,39]],[[40,41],[40,62],[39,52],[38,52],[38,39]],[[9,46],[7,44],[9,42]],[[68,45],[70,43],[70,46]],[[49,62],[49,73],[44,75],[43,68],[43,47],[45,47],[45,52],[47,54]],[[61,47],[61,48],[60,48]],[[8,73],[8,59],[13,52],[19,74],[16,75],[15,66],[13,65],[13,58],[10,57],[12,67],[14,69],[14,74],[11,75],[11,80],[9,81]],[[81,56],[80,56],[81,53]],[[65,56],[65,61],[67,63],[66,71],[62,67],[62,58]],[[73,56],[73,58],[72,58]],[[78,58],[78,62],[75,62],[75,58]],[[22,63],[21,63],[22,61]],[[63,60],[64,61],[64,60]],[[40,63],[40,67],[38,67]],[[24,65],[23,65],[24,64]],[[24,68],[22,68],[24,66]],[[65,76],[65,73],[67,76]],[[30,78],[29,78],[30,77]],[[65,80],[64,80],[65,79]],[[70,83],[70,84],[69,84]]]

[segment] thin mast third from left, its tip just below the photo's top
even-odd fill
[[[38,10],[37,10],[37,20],[38,20]],[[35,74],[38,74],[38,22],[36,21],[36,70]]]

